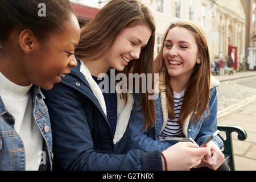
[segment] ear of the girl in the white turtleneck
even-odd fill
[[[31,30],[25,29],[19,34],[19,45],[24,53],[30,54],[35,48],[38,39]]]

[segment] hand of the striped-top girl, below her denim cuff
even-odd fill
[[[210,147],[210,154],[205,155],[196,168],[208,167],[216,171],[225,161],[224,154],[222,154],[217,144],[212,141],[210,141],[207,146]]]

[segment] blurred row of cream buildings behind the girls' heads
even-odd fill
[[[80,25],[93,19],[109,0],[70,0]],[[156,22],[155,56],[172,22],[191,20],[207,34],[211,61],[231,56],[234,69],[256,69],[256,0],[141,0]],[[0,46],[1,47],[1,46]]]

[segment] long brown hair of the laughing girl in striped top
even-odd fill
[[[196,44],[198,47],[198,53],[201,60],[200,64],[195,65],[193,73],[189,79],[188,88],[185,90],[183,104],[181,106],[179,120],[180,124],[184,124],[185,119],[190,113],[192,114],[192,122],[195,123],[200,121],[201,115],[208,108],[209,94],[210,94],[210,56],[209,49],[207,45],[207,39],[203,29],[192,22],[176,22],[172,23],[168,27],[166,34],[164,35],[164,40],[166,40],[168,32],[174,27],[183,27],[192,33],[195,37]],[[174,91],[170,84],[170,75],[168,75],[166,65],[163,60],[163,48],[155,59],[155,72],[160,73],[163,78],[163,82],[166,90],[161,90],[166,92],[167,98],[167,108],[168,116],[170,119],[174,119]]]

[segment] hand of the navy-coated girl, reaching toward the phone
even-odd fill
[[[167,160],[167,169],[188,171],[201,163],[201,159],[209,154],[210,147],[197,148],[192,142],[179,142],[163,151]],[[166,166],[164,166],[166,169]]]

